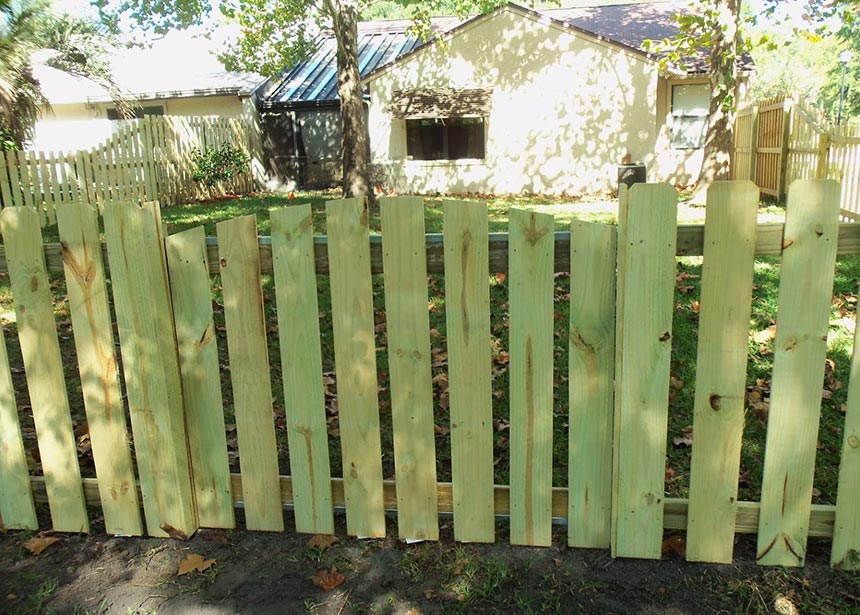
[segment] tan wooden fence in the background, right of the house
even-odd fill
[[[778,96],[741,109],[732,178],[753,180],[783,200],[797,179],[842,183],[842,218],[860,221],[860,129],[833,126],[802,97]]]

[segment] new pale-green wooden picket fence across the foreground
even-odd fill
[[[444,233],[425,235],[419,198],[383,199],[382,239],[368,241],[361,200],[327,204],[328,238],[308,205],[163,236],[157,205],[105,208],[106,245],[86,205],[57,210],[62,250],[42,247],[31,208],[0,213],[44,476],[29,476],[9,360],[0,344],[0,514],[36,528],[34,495],[53,529],[87,531],[99,503],[109,533],[164,536],[233,527],[435,540],[453,513],[456,540],[548,545],[553,519],[573,547],[659,558],[665,528],[686,529],[687,558],[731,561],[736,532],[758,533],[758,560],[799,566],[808,536],[833,540],[833,565],[860,552],[860,381],[849,383],[835,505],[811,505],[835,259],[860,254],[860,226],[839,225],[839,186],[800,181],[786,224],[756,226],[758,190],[715,184],[707,221],[677,226],[677,193],[642,184],[620,196],[620,225],[512,210],[490,235],[481,203],[448,201]],[[388,237],[395,238],[388,241]],[[107,255],[106,261],[103,254]],[[689,500],[665,497],[667,398],[676,255],[704,255]],[[753,262],[782,255],[779,329],[761,501],[737,501]],[[108,270],[108,265],[110,269]],[[63,271],[98,479],[81,479],[58,351],[49,271]],[[508,272],[510,482],[494,484],[489,279]],[[569,379],[553,382],[553,276],[569,272]],[[383,480],[371,276],[384,273],[395,480]],[[428,281],[444,273],[451,482],[437,481]],[[261,275],[274,274],[264,299]],[[220,274],[238,437],[230,474],[211,276]],[[332,478],[321,373],[317,275],[329,275],[343,478]],[[119,330],[118,368],[107,279]],[[275,446],[264,301],[277,304],[290,476]],[[567,299],[565,299],[567,300]],[[2,341],[2,340],[0,340]],[[860,369],[854,357],[852,373]],[[124,377],[127,399],[120,394]],[[552,484],[553,394],[569,395],[567,488]],[[127,407],[125,407],[127,402]],[[134,459],[126,433],[130,415]],[[388,420],[388,419],[386,419]],[[136,467],[136,476],[135,476]],[[136,486],[139,485],[139,491]],[[140,507],[144,514],[141,517]],[[145,529],[144,529],[145,527]]]

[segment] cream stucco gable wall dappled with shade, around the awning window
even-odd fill
[[[643,56],[506,9],[369,81],[373,162],[400,191],[583,193],[616,188],[626,153],[657,172],[658,73]],[[407,160],[396,90],[490,88],[483,160]]]

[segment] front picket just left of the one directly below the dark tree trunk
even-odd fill
[[[334,533],[310,205],[270,212],[296,530]]]

